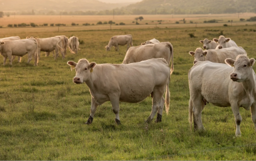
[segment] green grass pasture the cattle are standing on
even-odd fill
[[[77,55],[68,52],[65,60],[58,57],[54,61],[41,52],[37,67],[26,64],[27,55],[21,63],[15,60],[13,67],[0,65],[0,160],[256,160],[256,133],[250,111],[240,109],[242,136],[238,138],[230,107],[207,104],[202,114],[205,132],[189,129],[187,79],[193,66],[189,51],[202,47],[201,39],[219,37],[221,31],[243,47],[250,58],[256,58],[256,26],[180,26],[113,30],[66,27],[59,32],[43,27],[0,29],[0,37],[75,35],[85,41]],[[67,61],[86,58],[97,64],[122,63],[126,47],[119,47],[119,52],[106,52],[104,47],[113,35],[124,34],[133,35],[134,46],[154,37],[173,45],[175,69],[169,86],[169,114],[164,112],[160,123],[145,124],[151,112],[151,97],[137,104],[121,102],[121,125],[117,126],[111,103],[107,102],[97,108],[93,124],[87,126],[89,88],[72,82],[75,71],[70,70]]]

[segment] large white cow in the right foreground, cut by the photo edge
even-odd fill
[[[192,128],[203,130],[201,112],[204,99],[215,106],[231,106],[235,116],[236,136],[241,136],[241,114],[239,107],[249,110],[256,130],[256,75],[253,71],[255,59],[247,55],[225,60],[227,65],[198,62],[189,70],[189,122]]]

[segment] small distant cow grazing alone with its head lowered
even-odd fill
[[[127,44],[127,50],[129,49],[129,45],[131,47],[133,46],[133,37],[131,34],[129,35],[117,35],[111,37],[109,40],[109,44],[105,47],[107,51],[110,51],[111,47],[115,47],[115,51],[119,51],[118,45],[126,45]],[[126,50],[126,51],[127,51]]]

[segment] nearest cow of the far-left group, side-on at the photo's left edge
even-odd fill
[[[34,38],[30,39],[21,39],[15,41],[0,41],[0,51],[3,55],[3,65],[9,59],[9,64],[13,65],[11,57],[13,55],[23,57],[28,54],[27,63],[32,59],[32,56],[35,59],[34,65],[37,66],[38,63],[38,53],[37,53],[37,40]]]

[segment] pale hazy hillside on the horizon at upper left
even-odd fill
[[[55,13],[102,11],[124,7],[131,3],[103,3],[97,0],[0,0],[0,11],[16,13]]]

